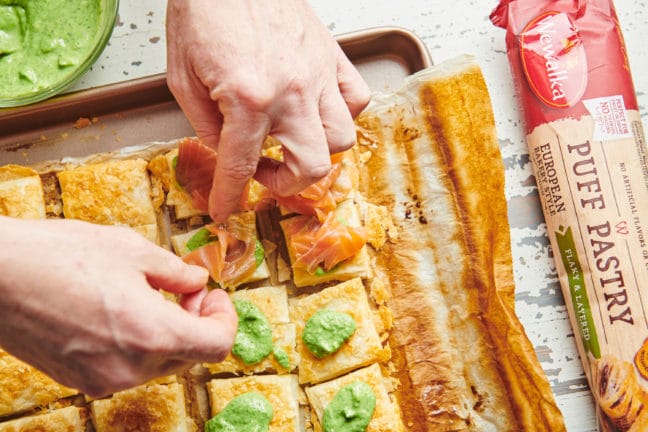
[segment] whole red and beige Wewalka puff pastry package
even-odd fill
[[[598,429],[648,430],[648,164],[611,0],[503,0],[511,72]]]

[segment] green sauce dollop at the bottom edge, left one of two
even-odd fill
[[[272,405],[261,393],[243,393],[205,423],[205,432],[266,432],[273,415]]]

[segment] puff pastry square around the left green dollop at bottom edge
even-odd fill
[[[268,399],[274,415],[268,432],[301,431],[299,384],[295,375],[259,375],[214,379],[207,383],[212,417],[236,396],[258,392]]]

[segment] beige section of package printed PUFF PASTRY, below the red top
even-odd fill
[[[648,293],[641,289],[648,287],[648,214],[640,211],[648,183],[637,145],[643,135],[639,113],[615,108],[616,100],[588,102],[608,120],[554,121],[527,141],[581,348],[594,359],[613,354],[646,365],[648,355],[638,356],[648,335]],[[626,119],[630,138],[619,138],[627,136]],[[597,130],[604,140],[595,138]]]

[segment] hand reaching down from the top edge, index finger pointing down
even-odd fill
[[[300,192],[356,140],[370,93],[305,0],[169,0],[167,82],[203,143],[218,150],[209,213],[223,222],[254,177]],[[283,163],[260,159],[267,135]]]

